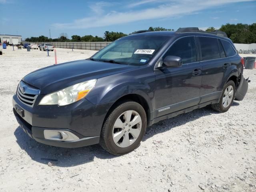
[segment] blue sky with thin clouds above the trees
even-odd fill
[[[256,22],[255,0],[0,0],[0,34],[22,38],[131,33],[150,26],[219,28]]]

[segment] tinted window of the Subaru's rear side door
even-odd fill
[[[220,58],[220,50],[217,38],[198,37],[202,52],[202,60],[212,60]]]

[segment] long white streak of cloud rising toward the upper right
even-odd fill
[[[148,0],[149,1],[149,0]],[[56,28],[83,29],[92,27],[110,26],[114,24],[124,24],[141,20],[162,19],[172,16],[194,14],[200,10],[221,6],[228,3],[245,2],[250,0],[173,0],[169,4],[161,4],[154,8],[144,8],[140,10],[130,10],[127,12],[110,11],[107,14],[90,16],[74,20],[71,23],[52,24]]]

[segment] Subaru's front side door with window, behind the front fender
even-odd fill
[[[197,60],[194,36],[180,38],[162,57],[179,56],[182,66],[155,70],[155,118],[199,103],[202,67]]]

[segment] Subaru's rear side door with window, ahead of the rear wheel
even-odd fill
[[[224,49],[218,38],[197,36],[200,48],[200,63],[202,65],[202,85],[200,88],[200,103],[220,98],[224,72],[230,66]]]

